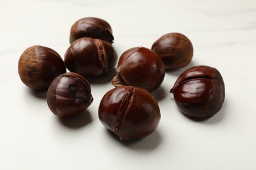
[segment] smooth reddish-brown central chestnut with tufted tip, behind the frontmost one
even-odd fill
[[[134,47],[123,52],[119,58],[112,84],[116,87],[136,86],[153,92],[160,87],[164,76],[163,62],[155,52]]]

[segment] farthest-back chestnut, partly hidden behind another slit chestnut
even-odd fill
[[[102,39],[110,43],[114,41],[110,24],[105,20],[94,17],[81,18],[72,25],[70,30],[70,44],[82,37]]]

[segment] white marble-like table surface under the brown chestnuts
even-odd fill
[[[12,0],[0,2],[0,16],[0,169],[256,169],[255,0]],[[44,95],[22,84],[22,52],[39,44],[63,58],[71,25],[87,16],[112,26],[118,56],[150,48],[165,33],[192,41],[192,63],[167,71],[153,93],[161,120],[148,137],[121,142],[98,120],[114,73],[89,80],[95,100],[70,120],[54,116]],[[183,116],[169,93],[194,65],[217,68],[226,85],[223,108],[203,122]]]

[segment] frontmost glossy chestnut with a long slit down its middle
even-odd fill
[[[100,122],[119,139],[150,135],[160,122],[156,99],[146,90],[121,86],[107,92],[98,108]]]

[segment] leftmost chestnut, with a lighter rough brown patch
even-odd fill
[[[33,90],[47,90],[54,78],[66,73],[60,55],[45,46],[27,48],[18,61],[18,74],[26,86]]]

